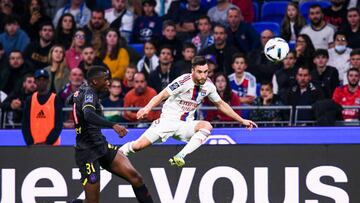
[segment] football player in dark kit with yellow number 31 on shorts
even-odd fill
[[[81,173],[85,190],[85,200],[73,203],[93,203],[100,199],[100,166],[131,183],[136,198],[141,203],[153,202],[139,172],[132,166],[118,147],[109,144],[102,135],[100,127],[113,128],[124,137],[127,129],[110,122],[102,116],[99,95],[110,85],[110,72],[102,66],[93,66],[87,73],[88,84],[70,98],[76,130],[75,159]]]

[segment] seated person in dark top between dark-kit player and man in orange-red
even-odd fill
[[[102,99],[101,105],[103,107],[123,107],[124,106],[124,94],[121,88],[121,80],[119,78],[113,78],[111,80],[109,88],[109,96]],[[112,122],[124,122],[122,111],[104,111],[104,116],[107,120]]]

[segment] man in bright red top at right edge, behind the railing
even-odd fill
[[[359,69],[350,68],[347,71],[347,85],[337,87],[332,99],[342,106],[360,105]],[[344,121],[359,120],[359,109],[344,109],[342,111]]]

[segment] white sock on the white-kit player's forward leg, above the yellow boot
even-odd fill
[[[210,131],[208,131],[207,129],[200,129],[191,137],[189,142],[176,156],[185,158],[186,155],[192,153],[197,148],[199,148],[209,135]]]

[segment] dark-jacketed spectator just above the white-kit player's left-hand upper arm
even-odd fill
[[[161,92],[167,85],[176,78],[177,70],[173,66],[174,57],[170,46],[163,46],[160,49],[159,66],[149,75],[149,86],[156,92]]]

